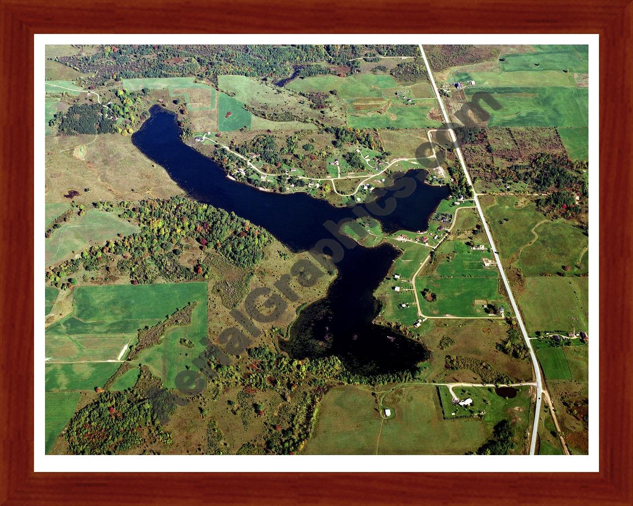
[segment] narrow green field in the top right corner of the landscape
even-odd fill
[[[507,71],[562,71],[586,73],[589,71],[589,46],[552,45],[534,46],[536,52],[504,54],[501,70]],[[534,65],[538,63],[539,66]]]

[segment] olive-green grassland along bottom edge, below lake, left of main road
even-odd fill
[[[483,421],[474,417],[444,419],[434,385],[411,385],[387,393],[381,409],[392,410],[390,419],[381,417],[369,389],[351,385],[333,388],[319,406],[313,436],[303,453],[460,455],[485,443],[501,419],[510,419],[520,441],[530,417],[528,388],[520,389],[517,397],[509,400],[487,388],[457,389],[456,393],[472,397],[475,410],[485,409]]]

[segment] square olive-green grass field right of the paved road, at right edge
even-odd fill
[[[530,332],[587,330],[589,278],[537,276],[525,280],[519,304]]]

